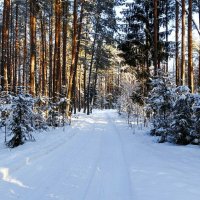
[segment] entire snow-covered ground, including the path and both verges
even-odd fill
[[[36,142],[1,144],[0,199],[199,200],[200,148],[158,144],[146,131],[95,111]]]

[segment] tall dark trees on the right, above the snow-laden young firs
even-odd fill
[[[150,75],[157,75],[160,69],[171,72],[174,67],[176,85],[196,91],[200,86],[200,48],[193,34],[200,35],[194,20],[194,16],[200,18],[200,1],[136,0],[127,3],[122,13],[125,37],[119,48],[129,65],[143,71],[141,79],[148,83]],[[169,37],[172,32],[174,40]],[[169,66],[170,59],[174,66]]]

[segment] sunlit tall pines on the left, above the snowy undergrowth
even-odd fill
[[[89,110],[90,88],[108,68],[114,31],[114,1],[5,0],[1,28],[1,87],[32,96],[67,97],[80,87]],[[87,73],[87,76],[86,76]],[[81,79],[81,80],[80,80]],[[82,82],[79,83],[84,79]],[[70,104],[71,105],[71,104]],[[74,106],[76,109],[76,106]],[[67,108],[69,113],[70,108]]]

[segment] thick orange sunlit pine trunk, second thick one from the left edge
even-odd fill
[[[35,1],[30,0],[30,94],[35,96],[36,65],[36,10]]]

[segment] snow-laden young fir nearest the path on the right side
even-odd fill
[[[147,100],[147,110],[153,113],[151,134],[160,136],[159,142],[164,142],[170,132],[171,112],[175,99],[174,87],[170,78],[162,72],[152,80],[152,87]]]

